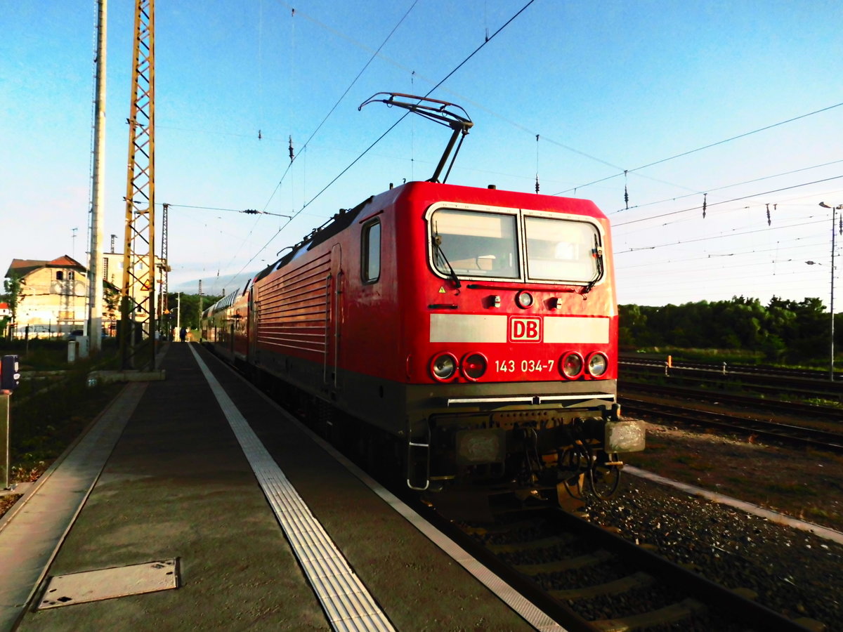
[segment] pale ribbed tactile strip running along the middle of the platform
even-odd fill
[[[201,372],[242,447],[322,608],[336,630],[394,630],[336,544],[310,512],[237,406],[191,345]]]

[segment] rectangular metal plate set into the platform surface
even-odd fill
[[[50,578],[38,610],[179,587],[176,560],[117,566]]]

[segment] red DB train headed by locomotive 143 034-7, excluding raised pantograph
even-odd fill
[[[614,491],[616,453],[643,449],[618,415],[617,314],[591,201],[427,181],[337,214],[202,334],[414,490],[555,500]]]

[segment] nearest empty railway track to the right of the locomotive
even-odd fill
[[[619,400],[626,415],[630,413],[633,415],[652,415],[662,419],[745,432],[749,435],[766,437],[779,442],[843,452],[843,434],[838,432],[792,426],[770,420],[749,419],[737,415],[655,403],[631,397],[620,397]]]

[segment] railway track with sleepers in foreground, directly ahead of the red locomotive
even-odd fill
[[[719,586],[563,511],[450,528],[457,544],[572,631],[817,629],[754,602],[748,588]]]

